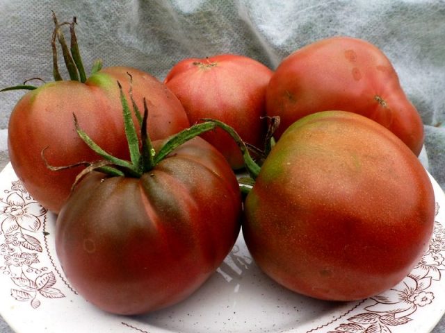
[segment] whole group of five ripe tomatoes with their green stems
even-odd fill
[[[419,262],[435,213],[423,124],[373,44],[327,38],[274,71],[234,54],[184,59],[161,83],[130,67],[87,76],[54,22],[70,80],[55,70],[20,86],[31,91],[8,148],[31,196],[58,214],[67,279],[97,307],[184,300],[241,228],[264,273],[314,298],[373,296]]]

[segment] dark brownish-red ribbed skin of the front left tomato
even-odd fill
[[[58,216],[56,251],[86,300],[142,314],[200,287],[234,245],[240,219],[232,169],[196,137],[140,179],[81,180]]]

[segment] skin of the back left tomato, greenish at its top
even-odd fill
[[[48,210],[58,213],[70,194],[81,167],[51,171],[99,156],[79,138],[73,114],[81,127],[106,151],[127,158],[122,105],[117,80],[128,96],[129,76],[133,96],[143,111],[143,96],[149,103],[148,130],[162,139],[188,127],[188,119],[177,98],[156,78],[129,67],[110,67],[91,76],[86,84],[77,81],[47,83],[25,94],[15,106],[8,125],[8,151],[15,173],[31,196]]]

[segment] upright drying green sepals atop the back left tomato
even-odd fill
[[[63,77],[60,75],[60,71],[58,69],[58,51],[56,42],[60,44],[60,49],[62,50],[63,60],[65,62],[65,67],[67,69],[68,75],[70,76],[70,80],[79,81],[81,83],[85,83],[87,80],[86,71],[83,67],[83,62],[81,58],[81,53],[79,51],[79,44],[77,43],[75,26],[77,24],[76,17],[73,17],[72,22],[63,22],[59,23],[56,17],[56,14],[52,12],[53,21],[54,21],[54,31],[51,39],[51,48],[53,53],[53,77],[55,81],[63,80]],[[65,35],[63,34],[62,27],[65,25],[70,26],[70,46],[68,46],[67,41],[65,40]],[[102,60],[96,60],[92,65],[91,75],[97,73],[102,69]],[[37,89],[34,85],[28,85],[26,83],[22,85],[15,85],[13,87],[6,87],[4,89],[0,89],[0,92],[7,92],[10,90],[33,90]]]

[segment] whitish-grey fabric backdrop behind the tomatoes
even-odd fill
[[[104,66],[138,67],[160,80],[182,58],[238,53],[274,69],[322,37],[368,40],[393,62],[421,113],[422,158],[445,187],[444,0],[0,0],[0,87],[35,76],[51,80],[51,10],[60,22],[78,18],[86,69],[102,58]],[[0,151],[22,94],[0,94]],[[10,332],[1,318],[0,332]]]

